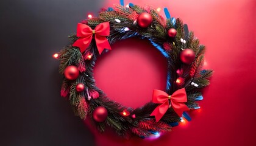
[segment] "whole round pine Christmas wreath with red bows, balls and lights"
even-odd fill
[[[213,71],[202,70],[205,47],[194,33],[164,11],[166,19],[151,7],[115,5],[77,25],[77,33],[69,36],[71,43],[55,55],[65,76],[61,96],[76,116],[90,115],[99,131],[109,126],[119,136],[140,137],[170,131],[182,117],[190,120],[185,111],[200,108],[200,89],[209,85]],[[93,78],[95,61],[111,50],[110,44],[133,36],[148,39],[168,61],[166,91],[155,89],[151,102],[137,109],[110,100]]]

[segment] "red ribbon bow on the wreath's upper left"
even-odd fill
[[[104,49],[111,50],[110,44],[106,38],[106,36],[110,35],[110,26],[108,22],[99,24],[94,30],[85,24],[77,24],[76,35],[79,37],[79,39],[73,44],[73,46],[79,47],[80,52],[84,52],[85,49],[87,49],[87,47],[90,45],[91,40],[93,39],[93,34],[95,35],[95,41],[99,54],[101,54]]]

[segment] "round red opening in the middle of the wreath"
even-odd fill
[[[110,99],[138,108],[151,101],[153,89],[165,91],[167,61],[148,40],[128,38],[98,57],[93,73]]]

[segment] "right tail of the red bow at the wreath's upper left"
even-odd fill
[[[95,35],[96,45],[99,51],[99,54],[103,52],[104,49],[111,50],[110,44],[105,36]]]

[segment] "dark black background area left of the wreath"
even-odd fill
[[[0,145],[94,145],[60,97],[59,61],[76,24],[101,1],[0,2]]]

